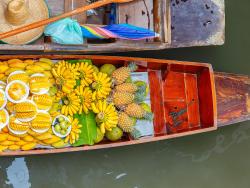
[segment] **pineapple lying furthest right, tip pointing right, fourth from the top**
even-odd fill
[[[153,116],[151,112],[146,112],[142,106],[136,103],[131,103],[125,108],[125,113],[131,117],[135,118],[145,118],[147,120],[152,120]]]

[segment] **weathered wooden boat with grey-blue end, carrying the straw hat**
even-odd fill
[[[50,15],[55,16],[83,6],[87,0],[47,0]],[[116,12],[113,14],[113,12]],[[81,24],[129,23],[159,33],[155,40],[86,40],[84,45],[58,45],[42,37],[29,45],[0,44],[6,51],[104,53],[159,50],[189,46],[222,45],[224,43],[224,1],[136,0],[132,3],[98,10],[97,16],[74,16]]]

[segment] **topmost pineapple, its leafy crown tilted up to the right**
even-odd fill
[[[122,84],[130,76],[131,72],[136,71],[137,65],[135,63],[130,63],[128,67],[120,67],[112,73],[112,78],[114,79],[115,85]]]

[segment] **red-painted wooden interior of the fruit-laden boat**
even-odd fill
[[[24,56],[38,59],[44,56]],[[216,97],[210,64],[112,56],[53,55],[54,60],[91,59],[100,67],[116,67],[135,62],[139,72],[147,72],[151,109],[154,113],[154,137],[172,138],[217,128]],[[9,56],[22,59],[22,56]],[[8,59],[8,56],[1,56]],[[132,140],[124,135],[122,141]],[[104,142],[106,143],[106,142]]]

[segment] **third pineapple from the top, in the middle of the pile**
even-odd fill
[[[135,95],[128,92],[115,92],[113,94],[113,102],[116,106],[130,104],[134,101]]]

